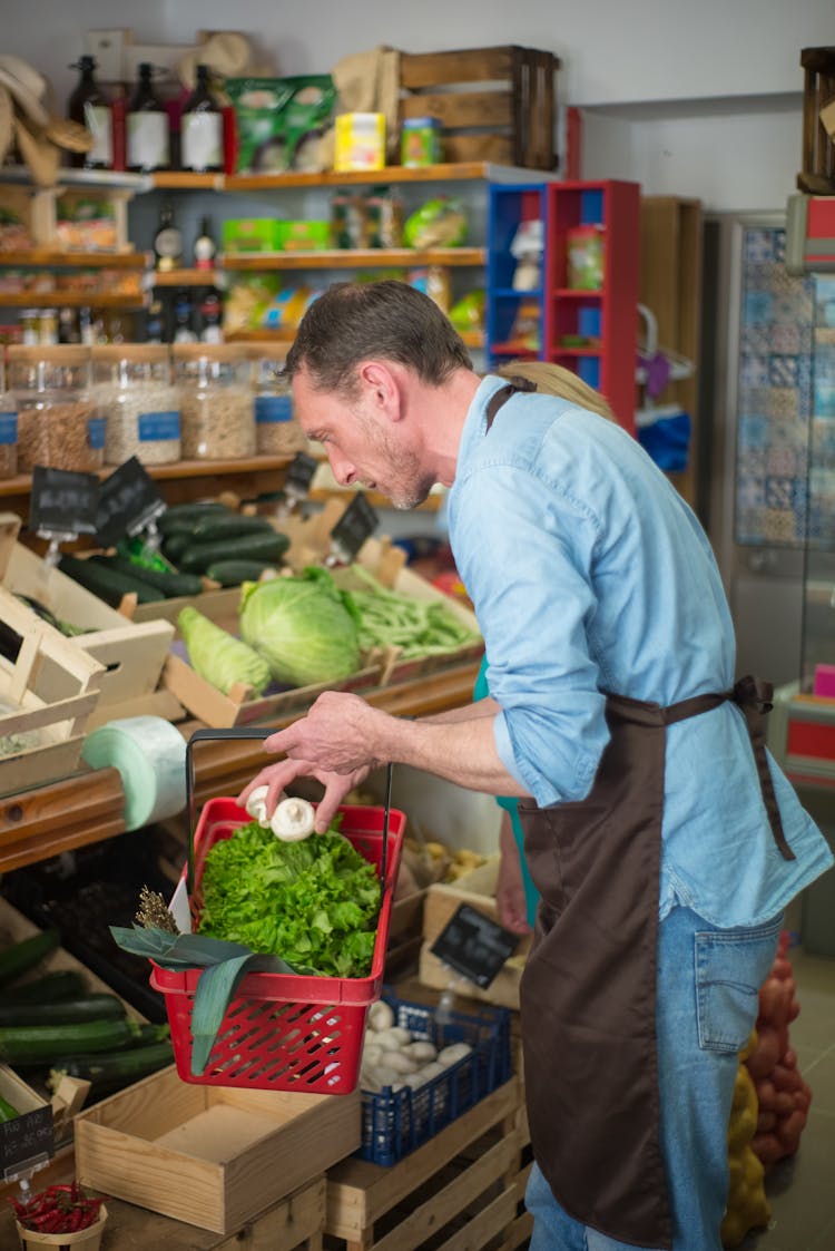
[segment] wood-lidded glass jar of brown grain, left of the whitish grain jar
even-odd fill
[[[18,469],[35,465],[95,473],[104,464],[105,423],[90,398],[90,349],[49,344],[8,349],[18,403]]]

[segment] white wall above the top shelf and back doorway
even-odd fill
[[[832,43],[832,0],[2,0],[1,11],[5,50],[48,74],[59,104],[94,28],[189,43],[231,25],[282,74],[328,71],[380,43],[550,49],[560,103],[584,109],[584,176],[716,210],[784,205],[800,163],[800,50]]]

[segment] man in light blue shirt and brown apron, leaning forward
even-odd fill
[[[782,908],[831,854],[765,757],[764,696],[698,520],[622,429],[479,378],[400,283],[340,284],[288,357],[338,482],[412,508],[450,488],[490,697],[408,721],[328,692],[266,739],[324,784],[370,768],[520,798],[541,896],[521,982],[531,1247],[719,1251],[738,1052]],[[756,751],[755,751],[756,748]]]

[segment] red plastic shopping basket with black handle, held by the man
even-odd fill
[[[265,738],[271,729],[196,731],[186,748],[186,792],[192,828],[191,744],[201,738]],[[340,808],[340,831],[378,869],[382,882],[380,916],[371,972],[368,977],[309,977],[291,973],[249,973],[224,1016],[202,1073],[191,1072],[191,1010],[199,968],[174,971],[154,965],[151,986],[165,997],[174,1058],[185,1082],[238,1086],[248,1090],[346,1095],[359,1080],[365,1016],[380,997],[391,902],[398,879],[406,818],[385,807]],[[234,799],[209,799],[190,837],[189,862],[181,884],[192,914],[199,913],[200,878],[206,852],[251,821]],[[315,834],[311,837],[316,837]]]

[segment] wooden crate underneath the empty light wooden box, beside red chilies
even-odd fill
[[[35,1178],[35,1186],[39,1177]],[[148,1212],[108,1196],[105,1251],[321,1251],[325,1178],[316,1177],[231,1235]],[[0,1246],[15,1246],[11,1208],[0,1207]],[[8,1241],[4,1241],[8,1238]]]

